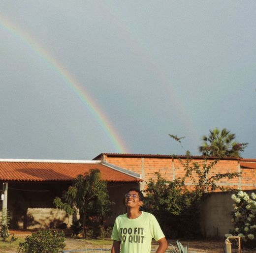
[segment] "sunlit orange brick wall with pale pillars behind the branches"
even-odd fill
[[[182,166],[180,160],[177,158],[172,159],[172,157],[170,156],[133,157],[132,155],[115,156],[104,154],[102,158],[104,158],[106,162],[141,174],[142,179],[144,180],[144,182],[141,183],[141,189],[145,189],[146,182],[148,182],[150,178],[156,179],[156,171],[160,171],[161,175],[165,176],[167,180],[173,180],[177,177],[183,177],[185,174],[184,167]],[[183,158],[182,161],[185,162],[186,159]],[[197,163],[203,162],[203,160],[200,158],[196,158],[193,161]],[[211,160],[209,160],[209,162],[211,162]],[[223,159],[220,160],[210,171],[209,176],[212,176],[216,173],[225,172],[241,172],[242,177],[237,177],[233,179],[222,179],[220,180],[220,185],[240,188],[242,190],[256,189],[256,169],[240,168],[239,161],[237,159]],[[189,186],[192,184],[192,182],[187,180],[186,184]]]

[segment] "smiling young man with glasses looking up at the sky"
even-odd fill
[[[164,253],[167,241],[154,215],[140,211],[143,205],[143,194],[138,189],[130,189],[125,195],[127,213],[116,218],[111,239],[111,253],[150,253],[151,241],[154,238],[159,247],[156,253]]]

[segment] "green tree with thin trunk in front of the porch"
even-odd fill
[[[110,214],[113,202],[109,200],[107,183],[100,178],[98,169],[91,169],[90,173],[78,175],[73,186],[63,193],[62,198],[56,197],[54,204],[71,215],[79,209],[80,220],[83,224],[83,237],[85,237],[86,218],[90,215],[103,218]]]

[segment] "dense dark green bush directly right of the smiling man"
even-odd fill
[[[180,180],[167,181],[159,172],[157,180],[150,179],[145,190],[143,210],[156,216],[167,238],[199,235],[198,201]]]

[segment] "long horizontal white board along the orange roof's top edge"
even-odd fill
[[[47,159],[0,159],[0,162],[12,163],[63,163],[63,164],[99,164],[99,160],[47,160]]]

